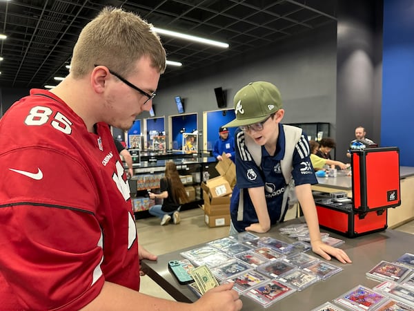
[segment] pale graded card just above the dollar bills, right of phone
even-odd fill
[[[190,249],[186,252],[181,252],[181,256],[187,258],[195,265],[206,265],[208,267],[217,267],[230,260],[231,256],[219,251],[219,249],[211,246],[199,247]]]

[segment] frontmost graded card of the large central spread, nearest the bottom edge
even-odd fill
[[[264,308],[268,308],[268,306],[290,294],[293,294],[295,291],[296,290],[294,288],[291,288],[289,285],[281,281],[271,280],[266,283],[262,283],[255,288],[247,290],[243,295],[253,299]]]

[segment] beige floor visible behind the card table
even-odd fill
[[[287,218],[295,217],[295,210],[288,212]],[[145,218],[137,220],[139,243],[154,254],[165,254],[184,247],[206,243],[228,236],[228,227],[209,228],[204,223],[204,211],[191,209],[181,212],[179,225],[159,225],[158,218]],[[414,220],[398,227],[396,230],[414,234]],[[148,276],[141,278],[141,292],[172,299],[157,283]]]

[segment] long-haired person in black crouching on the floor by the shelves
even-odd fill
[[[150,199],[163,199],[162,205],[154,205],[148,210],[151,215],[161,219],[161,226],[166,225],[171,220],[171,216],[172,222],[175,225],[179,224],[179,209],[181,204],[188,202],[188,196],[174,162],[166,163],[165,176],[159,180],[159,194],[152,192],[148,194]]]

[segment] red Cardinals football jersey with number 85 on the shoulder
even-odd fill
[[[32,90],[0,119],[0,305],[77,310],[104,281],[139,290],[130,189],[107,124],[89,133]]]

